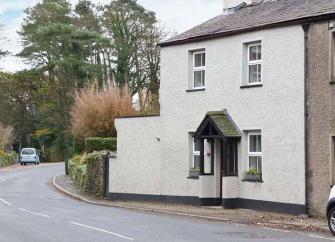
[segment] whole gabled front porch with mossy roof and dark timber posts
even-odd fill
[[[194,133],[194,138],[200,141],[202,205],[222,205],[223,199],[237,198],[241,136],[227,110],[208,112]]]

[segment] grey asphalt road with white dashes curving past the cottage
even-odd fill
[[[258,226],[86,204],[51,185],[64,164],[0,169],[0,242],[98,241],[287,241],[335,240],[329,234]]]

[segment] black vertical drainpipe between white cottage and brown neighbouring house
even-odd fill
[[[305,131],[305,209],[306,214],[309,212],[308,204],[308,34],[309,34],[309,23],[302,24],[304,30],[304,131]]]

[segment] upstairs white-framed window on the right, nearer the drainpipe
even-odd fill
[[[247,84],[262,83],[262,43],[247,45]]]

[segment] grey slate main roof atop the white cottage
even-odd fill
[[[335,0],[265,0],[221,14],[160,46],[195,42],[236,33],[335,17]]]

